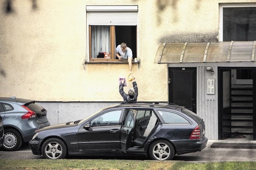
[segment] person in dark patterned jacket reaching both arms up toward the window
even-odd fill
[[[119,85],[119,93],[123,97],[124,102],[136,102],[137,101],[138,87],[137,87],[137,83],[134,80],[135,80],[135,77],[133,77],[133,80],[132,80],[133,88],[130,88],[128,90],[128,94],[126,94],[124,92],[124,81],[125,80],[121,80],[121,83]]]

